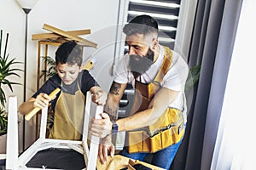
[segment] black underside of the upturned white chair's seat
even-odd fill
[[[41,150],[27,162],[26,167],[54,169],[83,169],[84,155],[75,150],[55,149]]]

